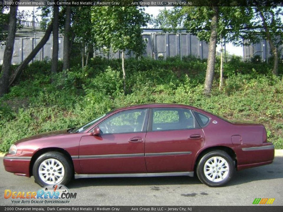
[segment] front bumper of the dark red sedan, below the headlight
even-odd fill
[[[29,164],[31,157],[17,157],[8,156],[7,154],[3,158],[5,170],[12,172],[16,175],[30,177]]]

